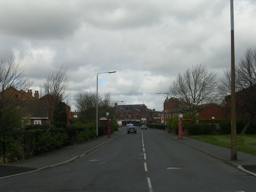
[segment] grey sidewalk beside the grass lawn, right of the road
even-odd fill
[[[178,135],[168,133],[164,130],[156,130],[148,128],[148,130],[155,130],[159,132],[160,134],[163,134],[165,136],[168,136],[174,140],[177,140],[178,142],[182,142],[188,146],[191,146],[197,150],[200,150],[218,160],[221,160],[222,162],[225,162],[231,166],[234,166],[236,168],[239,168],[249,174],[252,174],[256,176],[256,156],[250,155],[244,152],[237,152],[237,159],[236,161],[231,161],[231,151],[228,148],[212,145],[209,143],[201,142],[192,138],[188,138],[183,136],[183,139],[178,139]]]

